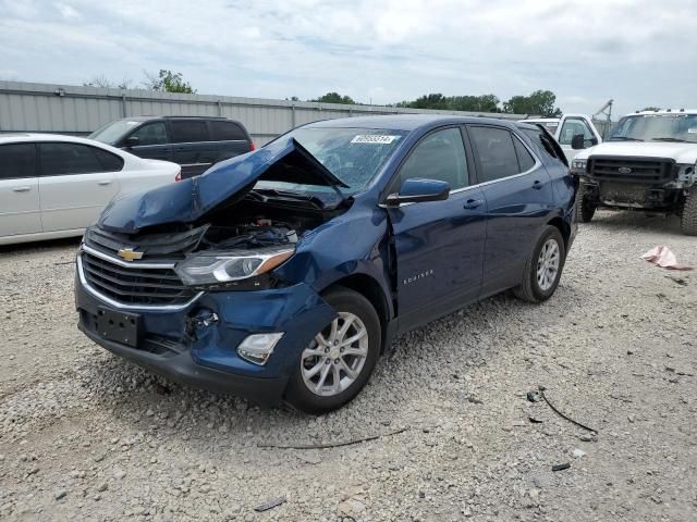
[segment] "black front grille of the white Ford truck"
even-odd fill
[[[675,162],[663,158],[592,156],[588,163],[588,172],[597,179],[662,184],[674,177]]]

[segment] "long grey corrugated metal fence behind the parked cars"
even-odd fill
[[[0,133],[85,135],[121,117],[136,115],[225,116],[240,120],[257,146],[304,123],[369,114],[431,113],[517,120],[524,115],[431,111],[378,105],[342,105],[139,89],[0,82]]]

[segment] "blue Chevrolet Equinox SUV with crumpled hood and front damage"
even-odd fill
[[[576,188],[529,124],[311,123],[114,199],[77,254],[80,328],[172,381],[327,412],[395,335],[511,288],[551,297]]]

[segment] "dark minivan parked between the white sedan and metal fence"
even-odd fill
[[[227,117],[135,116],[117,120],[89,138],[140,158],[182,166],[182,177],[201,174],[213,163],[254,150],[242,123]]]

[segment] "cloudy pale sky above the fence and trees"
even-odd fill
[[[550,89],[697,108],[697,0],[0,0],[0,79],[181,72],[200,94],[390,103]]]

